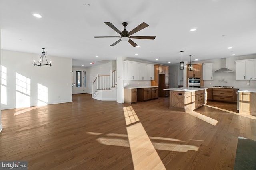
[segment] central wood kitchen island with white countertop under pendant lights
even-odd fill
[[[168,88],[170,92],[169,109],[192,113],[206,103],[207,88]]]

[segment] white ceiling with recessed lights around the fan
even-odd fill
[[[134,36],[156,39],[132,39],[139,48],[110,46],[118,38],[93,37],[119,36],[104,22],[120,31],[122,22],[128,31],[146,22]],[[73,66],[117,57],[170,65],[181,61],[182,50],[183,61],[190,54],[199,61],[256,54],[256,0],[0,0],[0,28],[1,49],[39,58],[44,47],[46,56],[70,57]]]

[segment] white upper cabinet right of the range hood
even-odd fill
[[[256,59],[236,60],[236,80],[256,77]]]

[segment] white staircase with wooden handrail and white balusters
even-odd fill
[[[116,101],[116,70],[110,75],[97,75],[92,82],[92,98],[102,101]]]

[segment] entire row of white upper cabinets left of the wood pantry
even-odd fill
[[[124,80],[154,80],[154,65],[124,61]]]

